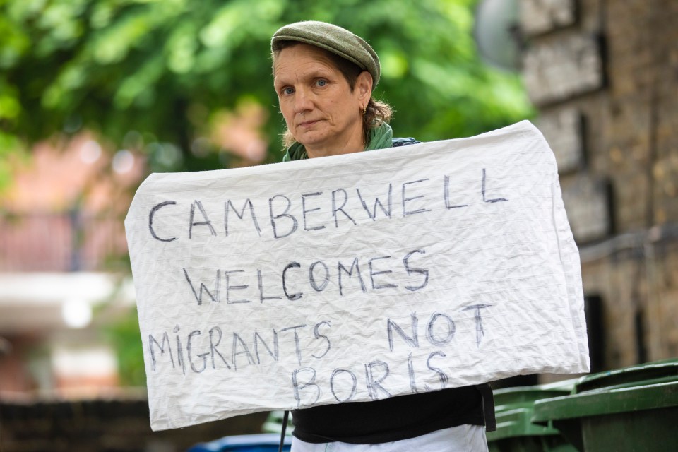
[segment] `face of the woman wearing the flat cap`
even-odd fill
[[[351,91],[321,49],[296,44],[278,53],[273,74],[287,128],[306,147],[309,157],[364,149],[362,109],[371,95],[369,73],[361,73]]]

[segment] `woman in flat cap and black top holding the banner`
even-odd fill
[[[391,107],[371,97],[379,57],[360,37],[292,23],[275,32],[271,50],[284,161],[417,143],[393,138]],[[483,398],[492,409],[492,391],[481,385],[294,410],[292,451],[487,451]]]

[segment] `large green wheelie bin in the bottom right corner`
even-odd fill
[[[678,359],[584,376],[569,396],[535,402],[578,451],[678,451]]]

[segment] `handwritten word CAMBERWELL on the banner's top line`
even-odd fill
[[[482,169],[480,183],[477,184],[477,199],[483,203],[496,203],[508,201],[506,198],[489,198],[487,193],[487,174]],[[438,185],[440,184],[440,185]],[[399,193],[399,198],[393,195],[394,185]],[[190,208],[177,206],[176,201],[164,201],[150,209],[148,214],[148,230],[151,236],[160,242],[173,242],[182,235],[194,239],[194,235],[201,237],[229,237],[234,229],[234,217],[246,221],[246,225],[239,225],[239,232],[255,233],[261,237],[264,233],[261,218],[266,218],[270,224],[270,234],[274,239],[290,237],[300,230],[310,232],[334,227],[338,229],[340,224],[358,225],[359,222],[376,221],[377,219],[392,219],[396,216],[406,218],[410,215],[418,215],[434,210],[434,208],[458,209],[470,205],[470,200],[461,203],[453,199],[450,192],[450,177],[444,176],[442,181],[433,179],[417,179],[402,184],[389,183],[386,194],[371,197],[364,194],[364,189],[335,189],[333,191],[314,191],[296,196],[275,194],[266,201],[252,201],[246,198],[244,201],[228,199],[223,203],[223,209],[214,210],[205,208],[201,201],[194,201]],[[434,195],[435,194],[435,195]],[[442,194],[442,196],[439,196]],[[266,203],[265,205],[261,205]],[[237,206],[242,206],[238,209]],[[398,211],[396,206],[398,206]],[[182,217],[187,215],[186,220],[174,221],[177,208]],[[262,213],[263,212],[263,213]],[[169,216],[168,216],[169,215]],[[218,231],[219,222],[215,215],[223,218],[222,231]],[[247,220],[245,217],[248,217]],[[162,226],[158,223],[162,220]],[[184,229],[185,228],[185,229]],[[200,232],[196,229],[200,228]]]

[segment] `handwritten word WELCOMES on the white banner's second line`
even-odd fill
[[[361,263],[355,257],[331,265],[324,261],[310,264],[293,261],[281,266],[280,273],[270,278],[257,269],[256,287],[243,284],[247,277],[245,270],[216,270],[211,289],[203,282],[198,283],[196,278],[191,278],[186,268],[182,270],[198,306],[203,304],[203,294],[206,295],[205,299],[212,302],[225,301],[227,304],[251,303],[256,299],[263,303],[283,299],[283,295],[286,299],[295,301],[304,297],[304,290],[311,289],[311,293],[323,292],[331,281],[331,287],[338,290],[340,296],[355,292],[367,293],[368,290],[397,290],[400,287],[416,292],[429,283],[429,270],[415,267],[417,258],[424,254],[426,250],[415,249],[403,258],[377,256],[363,259]],[[250,273],[249,276],[254,278],[254,270]],[[270,280],[274,281],[273,286],[277,286],[278,290],[270,290]]]

